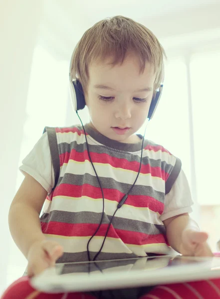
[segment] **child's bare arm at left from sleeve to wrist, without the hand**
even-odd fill
[[[26,174],[9,209],[11,236],[26,258],[33,242],[45,240],[39,213],[46,195],[46,190],[32,176]]]

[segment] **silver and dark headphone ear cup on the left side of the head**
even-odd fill
[[[79,80],[70,80],[69,83],[73,110],[82,110],[86,105],[82,85]]]

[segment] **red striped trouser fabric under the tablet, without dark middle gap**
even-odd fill
[[[220,299],[220,279],[155,287],[140,299]],[[34,290],[28,277],[11,284],[1,299],[95,299],[86,293],[47,294]]]

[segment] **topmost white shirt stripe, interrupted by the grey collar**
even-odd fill
[[[84,134],[81,134],[80,136],[78,135],[78,133],[57,133],[58,135],[58,144],[60,143],[68,143],[70,144],[71,142],[75,141],[77,143],[77,145],[82,145],[85,143],[85,136]],[[94,146],[102,146],[102,144],[100,144],[99,142],[97,142],[96,140],[94,140],[91,136],[87,136],[87,141],[88,141],[88,145],[94,145]],[[153,147],[156,145],[153,145]],[[139,157],[141,156],[141,150],[138,151],[131,151],[132,154],[136,154]],[[176,162],[176,158],[171,155],[170,153],[166,152],[166,151],[162,151],[157,150],[154,151],[153,149],[149,150],[149,149],[145,149],[143,151],[143,157],[149,156],[149,158],[151,159],[162,159],[162,161],[165,161],[169,164],[174,165]]]

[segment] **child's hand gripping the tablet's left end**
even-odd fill
[[[63,254],[63,248],[54,241],[37,241],[29,249],[27,275],[34,276],[55,264]]]

